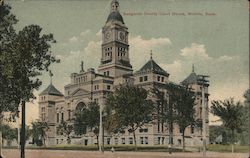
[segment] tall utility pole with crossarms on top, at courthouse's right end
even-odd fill
[[[209,76],[198,75],[198,82],[202,86],[202,141],[203,141],[203,157],[206,157],[206,105],[205,105],[205,86],[208,86]]]

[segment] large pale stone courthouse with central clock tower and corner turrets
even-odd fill
[[[58,132],[61,121],[74,117],[74,113],[87,108],[89,102],[97,102],[105,106],[107,94],[113,92],[120,84],[134,84],[150,90],[153,87],[167,92],[164,88],[171,81],[170,74],[163,70],[151,57],[139,71],[133,72],[129,58],[128,27],[119,13],[119,3],[113,0],[110,14],[102,28],[101,59],[97,70],[89,68],[84,70],[83,65],[78,73],[70,75],[71,82],[64,87],[64,94],[58,91],[51,83],[39,95],[39,116],[41,121],[49,125],[47,131],[47,145],[66,144],[67,137]],[[133,45],[133,43],[130,43]],[[133,52],[136,53],[136,52]],[[145,52],[148,53],[148,52]],[[196,118],[202,118],[202,85],[198,82],[198,75],[194,72],[180,84],[189,85],[196,94]],[[208,133],[208,85],[205,86],[206,129]],[[185,131],[186,145],[201,145],[202,130],[198,127],[188,127]],[[93,145],[97,143],[94,133],[87,132],[83,135],[71,134],[71,144]],[[159,145],[169,143],[169,130],[164,122],[155,121],[136,131],[139,145]],[[208,137],[208,135],[207,135]],[[208,139],[207,139],[208,140]],[[125,133],[115,135],[105,132],[105,144],[129,145],[133,144],[133,135]],[[181,131],[178,125],[173,130],[174,145],[182,144]]]

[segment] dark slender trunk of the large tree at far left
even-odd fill
[[[25,158],[25,101],[22,101],[21,158]]]

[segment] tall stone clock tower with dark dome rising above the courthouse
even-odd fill
[[[111,2],[110,14],[102,28],[102,58],[98,68],[105,76],[132,74],[129,60],[128,28],[119,13],[119,2]]]

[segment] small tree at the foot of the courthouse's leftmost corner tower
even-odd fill
[[[33,136],[34,143],[38,146],[46,145],[46,131],[49,129],[49,126],[46,122],[32,122],[31,123],[31,135]]]

